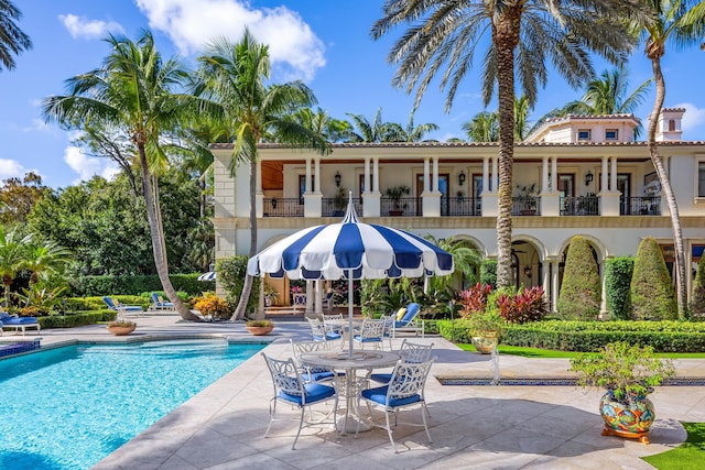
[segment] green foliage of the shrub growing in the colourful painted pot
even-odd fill
[[[625,404],[646,396],[675,373],[672,361],[655,358],[650,346],[628,342],[611,342],[599,352],[572,358],[571,371],[577,373],[578,385],[607,389]]]

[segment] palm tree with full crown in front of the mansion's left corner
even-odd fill
[[[258,43],[248,30],[237,44],[216,40],[205,55],[198,57],[199,78],[195,92],[216,100],[224,122],[235,135],[230,173],[238,163],[249,163],[250,170],[250,256],[257,253],[257,161],[258,143],[264,139],[299,147],[329,151],[325,138],[295,122],[288,114],[315,105],[313,92],[301,81],[267,87],[270,77],[269,46]],[[241,318],[250,298],[252,277],[245,278],[242,294],[232,319]]]

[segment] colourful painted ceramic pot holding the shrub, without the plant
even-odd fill
[[[615,400],[611,391],[599,401],[599,414],[605,420],[603,436],[620,436],[649,444],[647,434],[655,419],[653,403],[646,396],[632,396],[630,403]]]

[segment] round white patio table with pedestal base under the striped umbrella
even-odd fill
[[[343,419],[343,426],[338,426],[341,433],[354,433],[358,428],[361,431],[370,430],[372,427],[368,425],[360,416],[357,409],[357,396],[365,385],[367,379],[358,378],[358,370],[371,371],[373,369],[392,367],[401,359],[397,352],[388,351],[362,351],[355,350],[352,356],[348,351],[332,352],[318,351],[306,352],[300,356],[300,360],[304,365],[330,368],[333,370],[344,370],[345,378],[336,379],[336,386],[345,389],[346,409]]]

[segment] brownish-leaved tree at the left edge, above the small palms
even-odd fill
[[[42,185],[42,177],[28,172],[22,179],[8,178],[0,187],[0,223],[23,223],[34,205],[48,188]]]

